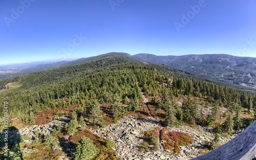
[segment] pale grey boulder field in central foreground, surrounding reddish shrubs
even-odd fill
[[[146,119],[125,117],[116,124],[111,124],[105,128],[91,131],[105,139],[111,139],[114,141],[116,143],[115,150],[117,152],[117,156],[125,160],[191,159],[201,155],[199,150],[202,148],[202,143],[204,141],[214,139],[214,131],[211,127],[172,127],[169,128],[169,131],[188,133],[193,138],[194,143],[189,146],[181,146],[181,154],[170,155],[169,152],[162,147],[160,142],[158,151],[147,152],[144,154],[139,151],[139,147],[143,142],[143,132],[146,130],[152,130],[155,127],[163,128],[163,126],[152,117],[148,117]],[[108,131],[108,137],[106,137],[106,131]],[[229,136],[220,136],[220,140],[224,144],[238,135],[238,133],[239,132],[236,132]]]

